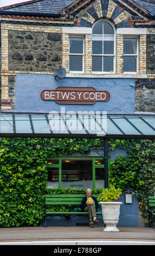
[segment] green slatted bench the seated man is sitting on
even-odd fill
[[[93,197],[98,198],[99,194],[92,194]],[[65,216],[65,215],[88,215],[88,212],[85,211],[49,211],[47,206],[56,206],[56,205],[72,205],[73,209],[79,208],[82,202],[83,197],[86,197],[86,194],[46,194],[45,205],[44,205],[44,227],[47,227],[46,217],[47,216]],[[102,215],[102,212],[96,212],[96,215]]]

